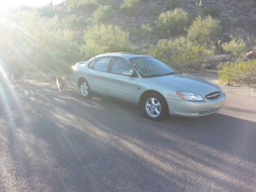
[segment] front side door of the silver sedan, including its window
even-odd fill
[[[124,72],[133,75],[124,75]],[[138,75],[132,65],[122,57],[114,57],[108,74],[106,95],[126,102],[135,103],[138,89]]]

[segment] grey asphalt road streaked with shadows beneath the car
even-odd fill
[[[154,122],[74,87],[0,82],[0,96],[0,191],[256,191],[256,97]]]

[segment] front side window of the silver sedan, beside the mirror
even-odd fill
[[[122,75],[125,71],[133,72],[133,67],[125,59],[121,57],[115,57],[111,67],[111,73]]]

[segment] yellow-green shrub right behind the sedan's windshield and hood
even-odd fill
[[[148,52],[158,57],[175,69],[198,70],[204,63],[204,57],[208,55],[205,49],[184,37],[175,40],[161,39],[156,46],[152,46]]]

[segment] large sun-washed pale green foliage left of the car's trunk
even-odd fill
[[[68,72],[82,59],[72,30],[61,30],[57,17],[41,17],[38,12],[19,12],[14,25],[2,26],[1,54],[8,63],[24,70]]]

